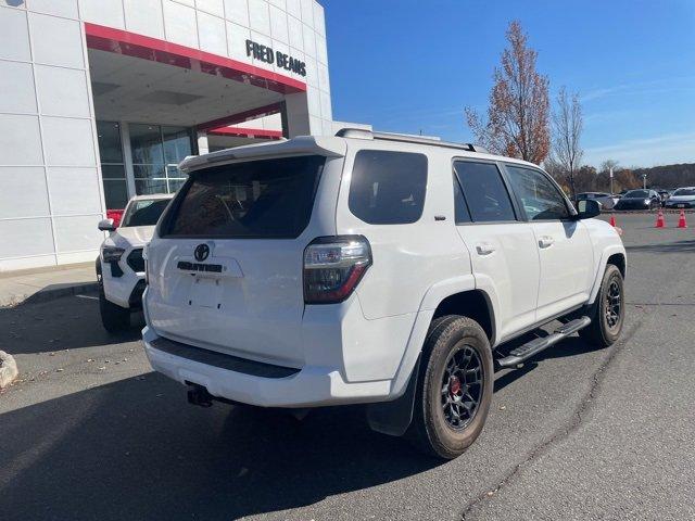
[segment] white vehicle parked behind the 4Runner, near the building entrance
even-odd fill
[[[106,331],[130,326],[130,312],[142,307],[144,259],[142,249],[154,233],[154,225],[174,195],[137,195],[128,201],[121,225],[103,219],[99,229],[111,233],[97,257],[99,310]]]

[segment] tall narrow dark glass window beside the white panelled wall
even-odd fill
[[[121,125],[116,122],[97,122],[97,136],[106,209],[125,208],[128,186],[123,163]]]

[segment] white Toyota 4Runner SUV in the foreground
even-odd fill
[[[372,429],[453,458],[495,366],[622,329],[620,237],[530,163],[344,129],[180,168],[146,251],[142,336],[193,404],[368,404]]]

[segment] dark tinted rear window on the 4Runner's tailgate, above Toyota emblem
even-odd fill
[[[296,238],[311,218],[325,162],[317,155],[282,157],[193,173],[165,234]]]

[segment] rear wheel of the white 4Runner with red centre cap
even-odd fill
[[[452,365],[458,366],[453,372]],[[468,383],[462,370],[470,370],[473,365],[478,371],[467,378],[477,383]],[[458,376],[464,377],[463,382]],[[433,320],[422,348],[413,421],[406,437],[429,456],[460,456],[482,431],[492,391],[492,350],[483,329],[475,320],[457,315]],[[462,399],[465,397],[471,399]]]

